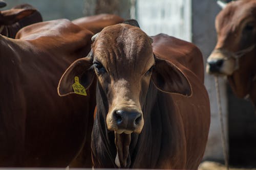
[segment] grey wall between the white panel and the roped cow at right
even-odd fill
[[[201,50],[204,63],[216,44],[215,16],[220,7],[215,0],[192,1],[192,42]],[[205,75],[205,86],[209,93],[211,108],[211,124],[204,159],[223,160],[221,145],[221,129],[218,115],[215,81],[213,76]],[[227,138],[227,95],[225,80],[220,80],[222,111],[224,115]]]

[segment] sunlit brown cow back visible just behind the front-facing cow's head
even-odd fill
[[[100,32],[104,27],[123,22],[123,18],[113,14],[99,14],[82,17],[73,20],[76,25],[92,31],[94,34]]]

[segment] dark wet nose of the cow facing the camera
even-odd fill
[[[142,114],[137,111],[117,110],[114,118],[118,129],[134,131],[141,123]]]

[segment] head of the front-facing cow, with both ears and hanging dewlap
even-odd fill
[[[109,26],[92,40],[92,51],[66,70],[58,92],[72,93],[75,76],[88,88],[96,75],[97,102],[103,101],[106,128],[115,132],[116,164],[127,167],[131,133],[142,131],[146,114],[143,108],[151,81],[162,92],[183,95],[190,95],[190,84],[176,66],[155,57],[152,39],[138,27],[124,23]],[[98,110],[101,106],[97,103]]]

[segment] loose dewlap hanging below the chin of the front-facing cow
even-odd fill
[[[115,163],[119,168],[127,168],[131,164],[129,146],[131,143],[131,134],[115,132],[116,159]]]

